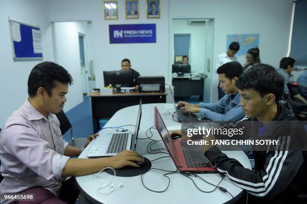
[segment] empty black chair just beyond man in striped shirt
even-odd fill
[[[60,113],[56,114],[56,116],[60,121],[60,129],[61,129],[62,135],[64,135],[68,130],[70,130],[71,141],[69,142],[69,144],[71,146],[75,146],[75,147],[79,147],[79,148],[84,147],[84,144],[85,144],[87,138],[86,137],[81,137],[81,138],[74,138],[73,137],[72,125],[69,122],[69,120],[68,120],[66,114],[64,113],[64,111],[62,110]]]

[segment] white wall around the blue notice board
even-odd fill
[[[27,99],[27,82],[32,68],[39,60],[15,61],[12,55],[8,18],[39,26],[42,33],[44,61],[54,61],[51,24],[46,0],[5,0],[0,6],[0,128],[8,117]]]

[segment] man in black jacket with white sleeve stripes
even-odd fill
[[[273,67],[255,65],[239,77],[236,86],[247,120],[259,121],[264,126],[268,121],[296,120],[292,112],[277,102],[283,93],[283,79]],[[300,143],[293,137],[276,135],[275,131],[273,135],[280,139],[281,145],[275,151],[253,151],[252,170],[228,158],[217,146],[203,146],[205,156],[219,172],[250,194],[248,203],[298,203],[297,194],[306,193],[306,156],[299,150]]]

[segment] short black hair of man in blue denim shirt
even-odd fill
[[[239,62],[228,62],[220,66],[216,72],[218,74],[225,74],[229,80],[232,80],[243,73],[243,67]]]

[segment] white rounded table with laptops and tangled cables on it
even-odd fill
[[[145,131],[154,125],[154,107],[157,106],[159,112],[161,113],[167,127],[178,126],[180,123],[172,120],[171,115],[164,115],[168,109],[174,108],[174,104],[158,103],[158,104],[144,104],[142,105],[142,117],[140,122],[140,132],[139,137],[145,137]],[[115,127],[120,125],[135,125],[137,116],[138,106],[130,106],[117,111],[114,116],[108,121],[105,127]],[[133,130],[134,127],[127,126],[127,129]],[[105,131],[114,131],[112,129]],[[157,130],[152,129],[154,136],[152,139],[160,140],[161,137]],[[166,154],[149,154],[146,151],[147,144],[150,140],[137,140],[136,151],[147,157],[149,160],[165,156]],[[79,158],[87,158],[86,154],[89,150],[90,143],[88,147],[81,153]],[[152,148],[166,148],[164,143],[158,142],[156,146]],[[250,162],[247,156],[242,151],[223,151],[229,157],[236,158],[244,167],[251,168]],[[152,168],[162,168],[165,170],[176,170],[175,164],[171,157],[159,159],[152,162]],[[144,183],[150,189],[163,190],[166,188],[168,180],[163,177],[164,171],[154,171],[151,170],[144,175]],[[221,180],[219,174],[199,174],[205,180],[218,184]],[[106,172],[100,174],[101,177],[97,180],[93,174],[78,176],[76,177],[80,190],[85,194],[85,196],[93,202],[103,202],[103,203],[198,203],[203,200],[202,203],[224,203],[232,199],[231,195],[224,193],[219,189],[211,193],[204,193],[199,191],[192,181],[179,174],[170,174],[171,183],[169,189],[162,193],[151,192],[145,189],[141,184],[140,176],[134,177],[117,177],[115,184],[123,183],[124,187],[117,188],[113,193],[106,197],[99,197],[96,193],[97,188],[109,182],[113,175],[109,175]],[[193,179],[196,181],[197,185],[202,190],[212,190],[214,186],[201,181],[200,179]],[[241,196],[242,189],[233,184],[228,178],[224,178],[220,186],[226,188],[234,197]]]

